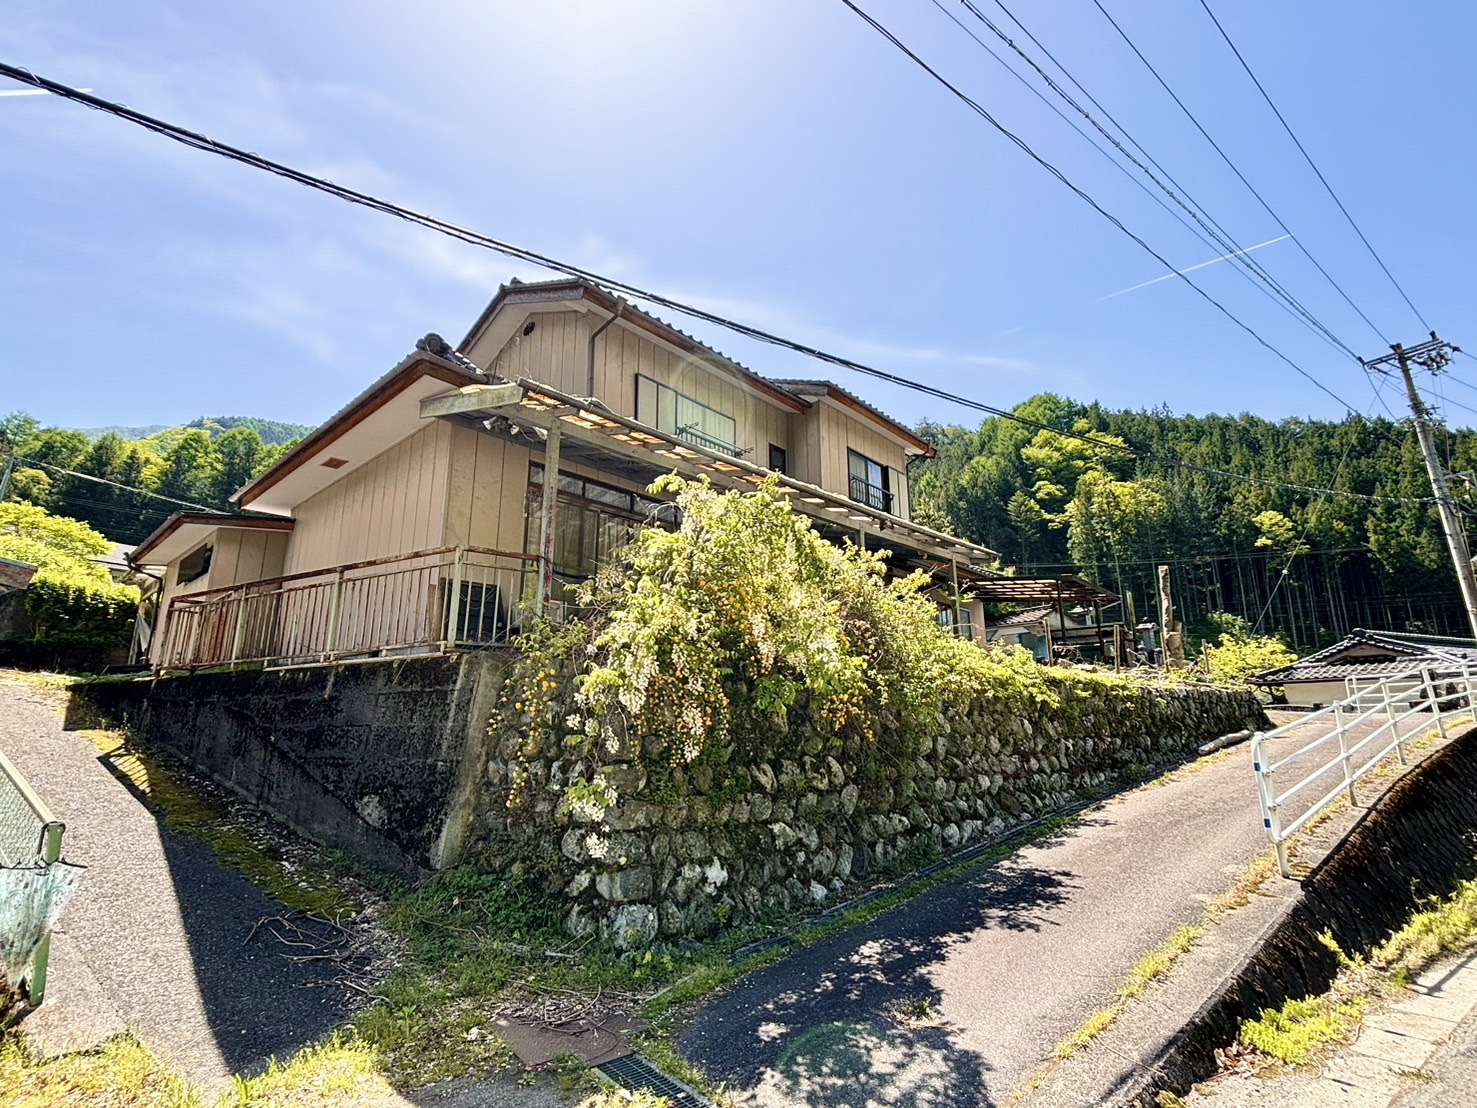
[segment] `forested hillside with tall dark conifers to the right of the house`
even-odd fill
[[[917,519],[998,550],[1022,573],[1080,570],[1131,591],[1139,619],[1156,619],[1154,572],[1170,564],[1192,631],[1230,612],[1304,649],[1353,626],[1468,634],[1409,423],[1106,411],[1053,394],[1015,412],[1102,446],[1000,418],[975,430],[926,424],[938,458],[911,473]],[[1437,443],[1449,470],[1474,468],[1471,431],[1439,431]],[[1456,489],[1470,498],[1465,480]]]

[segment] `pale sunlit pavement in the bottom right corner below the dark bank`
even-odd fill
[[[1471,1108],[1477,1105],[1477,950],[1418,975],[1365,1015],[1354,1042],[1303,1070],[1250,1067],[1196,1087],[1192,1108]]]

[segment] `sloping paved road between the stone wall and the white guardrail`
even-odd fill
[[[752,974],[681,1050],[740,1104],[1003,1104],[1266,847],[1236,748]]]

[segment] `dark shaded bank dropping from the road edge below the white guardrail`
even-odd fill
[[[1260,950],[1229,978],[1156,1058],[1108,1099],[1156,1108],[1161,1092],[1185,1093],[1216,1073],[1217,1047],[1241,1021],[1289,997],[1320,994],[1338,972],[1319,941],[1368,954],[1433,895],[1477,875],[1477,730],[1433,753],[1363,814],[1301,882],[1297,903]]]

